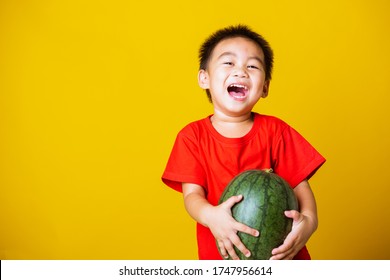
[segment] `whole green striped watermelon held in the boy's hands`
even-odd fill
[[[235,248],[237,256],[241,260],[268,260],[272,250],[279,247],[291,231],[292,219],[287,218],[284,211],[298,210],[297,198],[289,184],[272,170],[247,170],[238,174],[226,186],[219,204],[240,194],[243,199],[232,207],[232,216],[257,229],[260,236],[238,232],[251,256],[247,258]]]

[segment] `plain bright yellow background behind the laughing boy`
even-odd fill
[[[390,259],[390,4],[0,1],[0,259],[196,259],[160,176],[212,112],[197,51],[244,23],[275,51],[279,116],[326,158],[314,259]]]

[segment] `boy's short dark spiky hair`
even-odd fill
[[[271,80],[273,67],[273,51],[269,43],[258,33],[252,31],[245,25],[229,26],[211,34],[199,49],[199,70],[207,70],[208,63],[213,54],[215,47],[223,40],[242,37],[253,41],[264,54],[265,78]],[[211,100],[210,91],[206,90],[209,100]]]

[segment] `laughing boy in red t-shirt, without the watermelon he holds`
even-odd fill
[[[273,52],[246,26],[212,34],[200,52],[198,83],[214,114],[190,123],[175,141],[162,180],[183,193],[188,213],[197,221],[200,259],[238,259],[234,247],[251,252],[237,232],[261,234],[234,220],[231,207],[242,196],[218,205],[225,186],[248,169],[269,169],[290,183],[300,212],[286,211],[293,229],[271,259],[310,259],[306,242],[317,228],[317,209],[308,179],[325,159],[293,128],[278,118],[252,112],[268,95]]]

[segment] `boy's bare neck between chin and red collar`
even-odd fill
[[[253,126],[253,114],[251,112],[239,117],[214,114],[210,120],[218,133],[227,138],[243,137]]]

